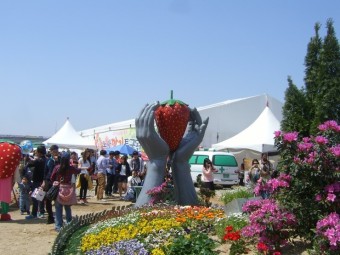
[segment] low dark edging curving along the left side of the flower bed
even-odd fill
[[[112,217],[119,217],[123,214],[126,214],[127,212],[130,212],[132,207],[132,204],[113,206],[111,210],[104,210],[98,213],[89,213],[81,216],[75,216],[69,224],[61,228],[53,243],[52,252],[50,254],[63,255],[67,241],[79,228],[97,223],[99,221],[110,219]]]

